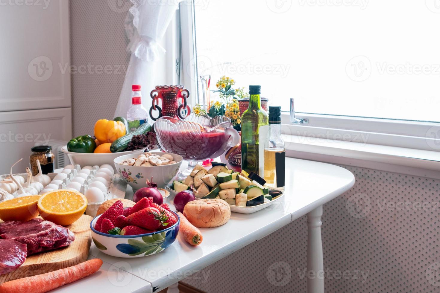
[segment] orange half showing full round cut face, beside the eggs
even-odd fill
[[[77,221],[87,207],[87,199],[74,190],[53,190],[38,199],[40,216],[47,221],[66,226]]]

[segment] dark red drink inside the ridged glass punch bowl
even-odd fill
[[[159,143],[166,152],[197,161],[219,156],[216,152],[223,149],[227,138],[229,135],[223,129],[201,133],[168,131],[158,134]]]

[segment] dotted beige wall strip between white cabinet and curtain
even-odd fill
[[[124,29],[130,6],[129,1],[70,0],[74,136],[93,134],[97,119],[114,118],[130,58]]]

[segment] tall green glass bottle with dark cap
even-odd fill
[[[264,141],[269,123],[261,109],[260,86],[249,86],[249,108],[242,115],[242,170],[264,176]]]

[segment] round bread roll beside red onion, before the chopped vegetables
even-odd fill
[[[185,205],[183,215],[197,228],[211,228],[229,221],[231,208],[223,199],[197,199]]]

